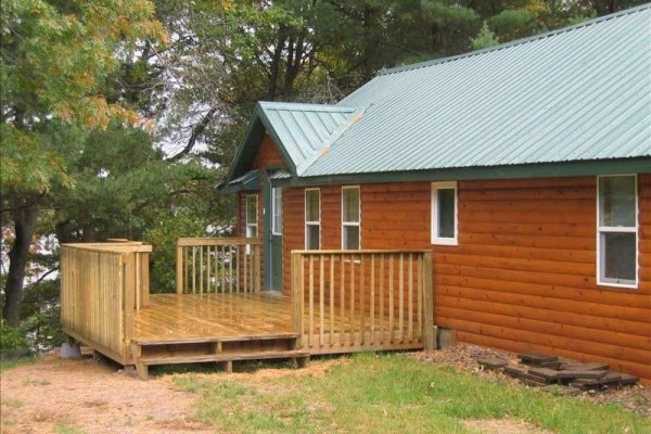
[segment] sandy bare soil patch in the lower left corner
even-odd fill
[[[192,419],[197,395],[170,378],[140,381],[119,367],[50,355],[2,373],[0,432],[212,433]]]

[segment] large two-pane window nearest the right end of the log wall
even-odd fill
[[[599,177],[597,188],[597,282],[637,288],[637,177]]]

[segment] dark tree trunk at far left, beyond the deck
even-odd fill
[[[12,327],[21,324],[21,299],[25,283],[25,268],[38,210],[38,205],[27,205],[12,213],[16,239],[9,252],[9,273],[4,285],[4,306],[2,307],[2,318]]]

